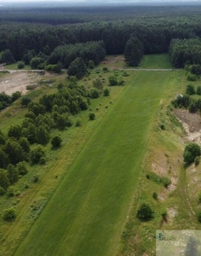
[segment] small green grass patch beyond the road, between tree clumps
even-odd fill
[[[173,68],[168,54],[161,55],[144,55],[141,61],[140,68]]]

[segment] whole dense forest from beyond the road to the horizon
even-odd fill
[[[29,64],[37,57],[38,68],[58,61],[68,67],[77,57],[98,64],[105,54],[123,54],[130,38],[141,55],[167,53],[172,39],[201,36],[200,12],[200,6],[1,9],[0,60]]]

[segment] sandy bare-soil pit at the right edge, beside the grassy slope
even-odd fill
[[[201,116],[183,109],[175,109],[174,113],[187,131],[187,139],[201,145]]]

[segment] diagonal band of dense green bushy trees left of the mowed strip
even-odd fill
[[[100,86],[98,79],[96,86]],[[12,102],[13,98],[19,96],[18,93],[12,96],[3,94],[3,99]],[[8,191],[9,186],[17,183],[21,175],[26,175],[28,172],[26,162],[36,165],[47,161],[43,146],[49,141],[53,148],[60,147],[61,138],[59,136],[51,138],[50,131],[71,127],[73,125],[71,116],[87,110],[89,99],[99,96],[100,90],[96,88],[87,90],[83,85],[78,85],[76,77],[70,76],[66,84],[58,84],[55,93],[43,95],[37,102],[32,101],[29,96],[21,98],[21,105],[27,107],[21,125],[10,125],[7,134],[0,131],[1,195]],[[89,119],[95,119],[95,113],[90,112]],[[81,125],[81,122],[76,125]],[[32,147],[34,143],[37,145]]]

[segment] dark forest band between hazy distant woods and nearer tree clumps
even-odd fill
[[[200,37],[199,23],[183,22],[147,24],[134,20],[112,22],[87,22],[78,25],[50,26],[27,23],[0,24],[0,52],[2,62],[9,55],[9,61],[31,61],[37,55],[55,55],[72,44],[103,42],[107,55],[123,54],[130,38],[137,38],[144,54],[167,53],[173,38]],[[58,49],[59,47],[59,49]],[[57,49],[56,49],[57,48]],[[5,54],[4,51],[7,50]],[[8,54],[8,50],[10,54]]]

